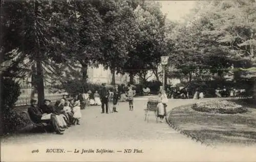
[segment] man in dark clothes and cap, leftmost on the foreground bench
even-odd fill
[[[59,127],[56,116],[54,114],[50,115],[50,119],[42,120],[44,116],[42,110],[37,106],[37,101],[32,99],[31,106],[28,109],[29,116],[34,123],[50,123],[55,129],[57,134],[63,134],[61,131],[64,131]]]

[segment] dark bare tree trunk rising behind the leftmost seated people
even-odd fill
[[[42,100],[45,98],[45,88],[44,88],[44,74],[42,72],[42,61],[38,58],[36,60],[36,90],[37,90],[37,100],[41,104]]]

